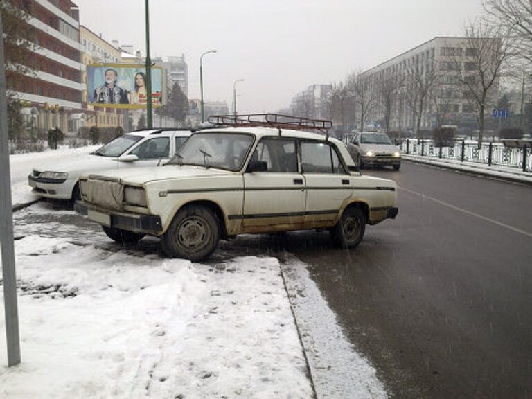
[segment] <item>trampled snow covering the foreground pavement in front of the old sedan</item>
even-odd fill
[[[2,398],[312,397],[274,258],[209,266],[37,235],[16,251],[23,362],[6,368],[0,334]]]

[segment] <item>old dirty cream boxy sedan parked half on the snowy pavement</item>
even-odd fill
[[[240,233],[329,229],[352,248],[398,213],[395,182],[360,175],[342,142],[269,127],[196,132],[163,168],[86,174],[80,193],[78,212],[113,240],[157,236],[189,260]]]

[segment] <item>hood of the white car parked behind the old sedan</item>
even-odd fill
[[[70,174],[93,170],[118,168],[118,160],[112,157],[100,157],[92,154],[70,155],[60,161],[42,163],[33,169],[39,172],[67,172]]]

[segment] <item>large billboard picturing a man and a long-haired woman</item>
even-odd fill
[[[87,66],[87,95],[94,107],[145,109],[146,69],[143,64]],[[152,104],[163,105],[163,69],[152,67]]]

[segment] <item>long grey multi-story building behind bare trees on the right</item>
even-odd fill
[[[475,72],[472,72],[475,65],[472,60],[475,59],[477,49],[472,47],[471,43],[472,39],[465,37],[435,37],[361,73],[359,78],[369,82],[373,89],[371,96],[375,101],[367,115],[366,125],[357,127],[363,130],[368,125],[382,125],[384,106],[380,103],[382,98],[378,93],[378,87],[389,78],[397,77],[402,83],[393,98],[389,128],[415,130],[417,116],[412,109],[412,103],[418,99],[415,98],[417,94],[416,89],[413,89],[411,76],[415,76],[418,82],[423,82],[420,85],[427,85],[430,80],[434,81],[434,84],[429,85],[425,97],[420,129],[432,130],[441,124],[476,127],[476,111],[472,105],[471,94],[459,81],[459,77],[464,78],[468,75],[475,80],[473,76]],[[498,89],[497,81],[491,92],[496,94]],[[495,97],[496,95],[493,96]]]

